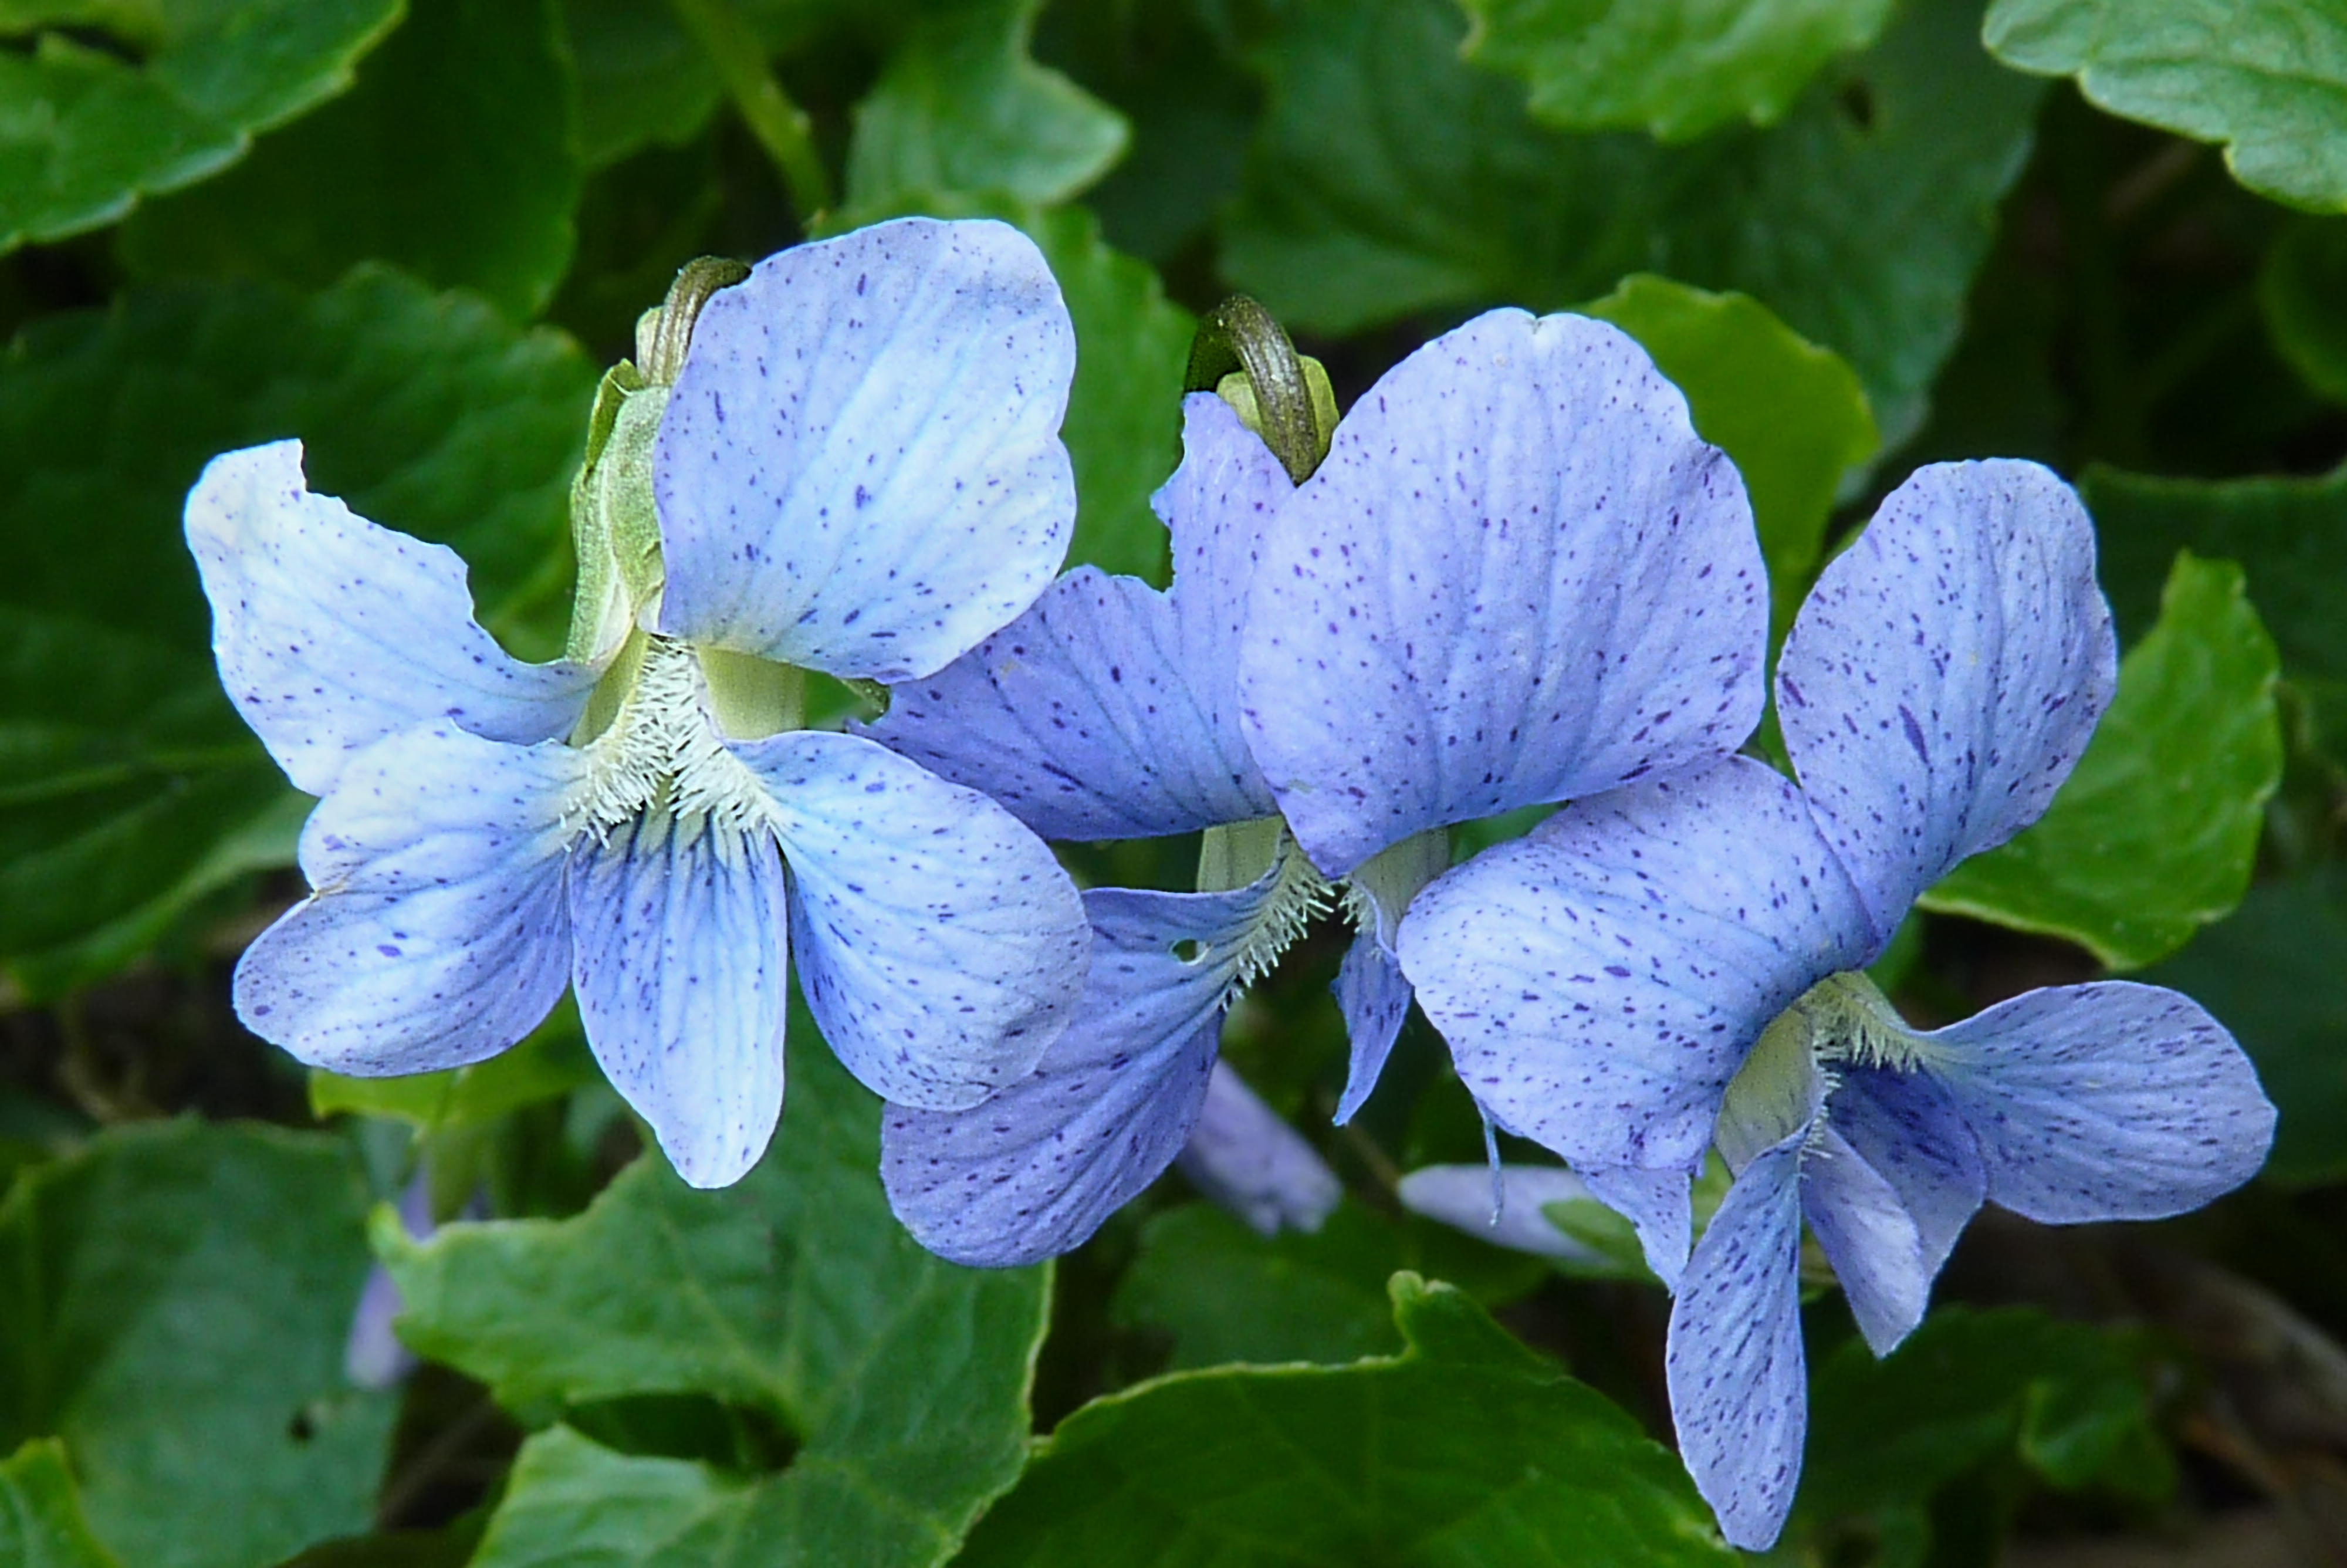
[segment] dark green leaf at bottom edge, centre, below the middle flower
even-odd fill
[[[1035,1446],[958,1568],[1737,1561],[1678,1460],[1448,1284],[1394,1275],[1406,1350],[1174,1373]]]

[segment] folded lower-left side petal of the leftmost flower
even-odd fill
[[[570,979],[563,859],[584,761],[453,723],[343,768],[303,829],[314,890],[237,960],[237,1016],[336,1073],[432,1073],[530,1033]]]

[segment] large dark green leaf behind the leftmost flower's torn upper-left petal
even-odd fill
[[[162,286],[0,357],[0,962],[26,991],[291,861],[305,807],[221,692],[181,540],[202,465],[303,437],[319,491],[455,545],[491,629],[547,657],[591,387],[568,338],[387,270],[314,298]]]

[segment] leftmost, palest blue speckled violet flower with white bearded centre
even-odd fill
[[[481,631],[448,549],[312,495],[293,441],[188,498],[221,678],[322,796],[312,894],[246,948],[239,1016],[314,1066],[420,1073],[575,986],[695,1185],[772,1136],[791,948],[857,1077],[958,1108],[1035,1063],[1089,944],[1009,812],[800,728],[803,671],[934,671],[1056,570],[1075,343],[1042,256],[906,221],[713,282],[688,270],[606,378],[556,664]]]

